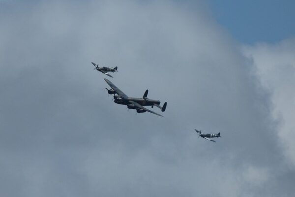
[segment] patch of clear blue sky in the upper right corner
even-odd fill
[[[276,43],[294,36],[294,0],[209,0],[216,22],[238,41]]]

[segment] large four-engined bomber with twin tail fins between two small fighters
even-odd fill
[[[159,100],[153,100],[153,99],[148,99],[148,90],[146,90],[143,98],[131,98],[125,95],[120,89],[118,89],[110,80],[104,79],[109,86],[111,86],[111,89],[108,90],[109,95],[114,95],[114,102],[117,104],[122,104],[122,105],[127,105],[128,109],[136,109],[137,113],[144,113],[146,111],[156,114],[158,116],[162,116],[161,114],[158,114],[156,112],[153,112],[144,106],[156,106],[164,112],[166,110],[167,102],[164,103],[164,105],[161,107],[160,106],[160,101]],[[116,95],[117,94],[117,95]]]

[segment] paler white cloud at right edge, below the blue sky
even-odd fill
[[[295,39],[277,44],[258,43],[245,46],[244,53],[253,61],[262,86],[271,93],[271,114],[279,123],[277,126],[281,146],[290,167],[295,166],[294,110],[295,93]]]

